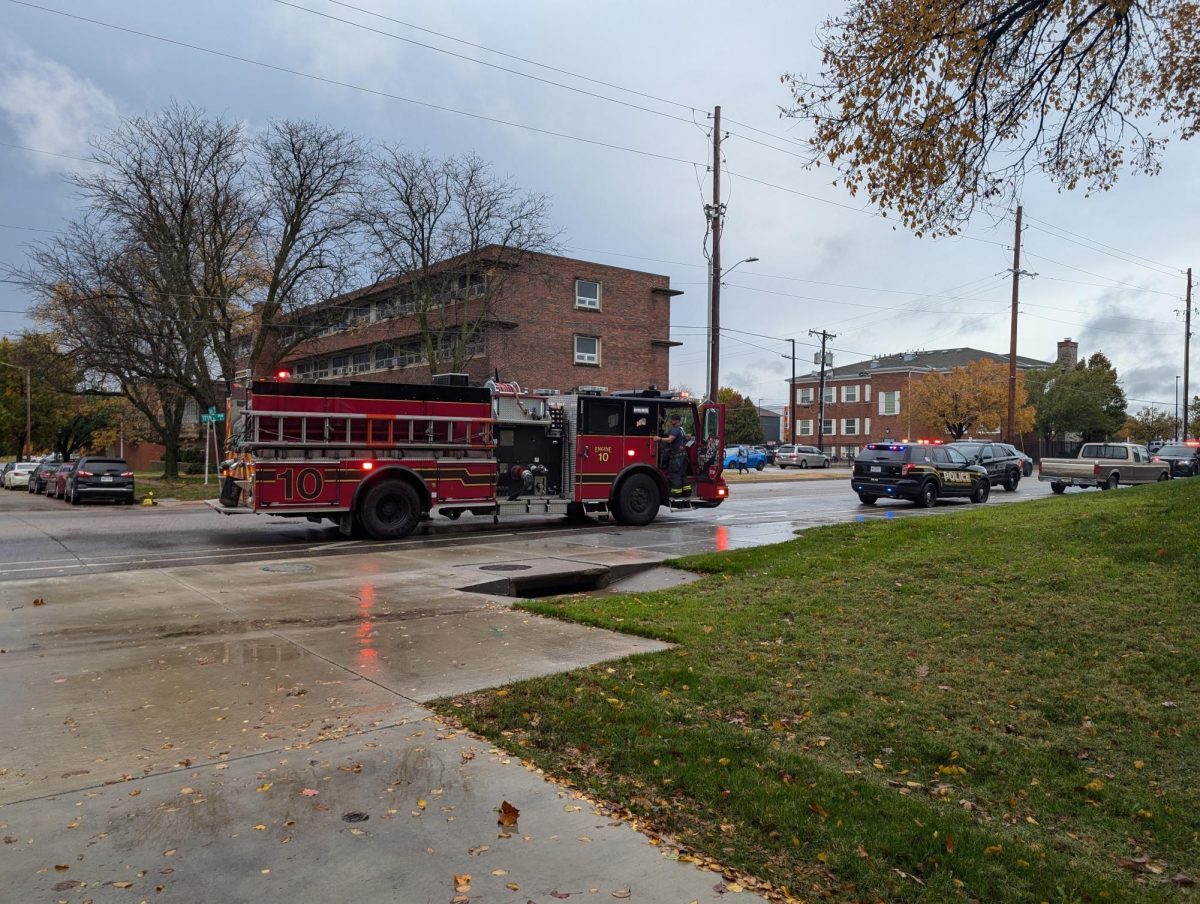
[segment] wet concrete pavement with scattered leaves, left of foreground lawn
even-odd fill
[[[718,900],[421,706],[665,648],[462,589],[655,561],[529,540],[0,585],[0,897]]]

